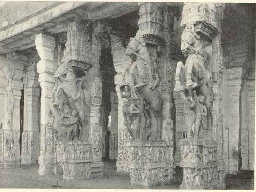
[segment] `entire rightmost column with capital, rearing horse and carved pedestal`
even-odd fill
[[[179,141],[179,144],[181,144],[183,148],[183,150],[181,150],[181,167],[183,167],[184,179],[181,188],[225,188],[223,116],[221,111],[223,61],[220,40],[223,9],[224,4],[221,3],[185,3],[183,7],[181,27],[184,28],[184,31],[181,37],[181,51],[187,56],[187,60],[185,65],[183,65],[182,62],[177,63],[174,90],[180,91],[181,97],[183,97],[183,122],[187,124],[187,135],[190,139],[181,139]],[[189,48],[188,45],[191,45],[192,49]],[[202,61],[204,62],[200,64]],[[202,76],[199,77],[197,74],[193,74],[192,68],[195,70],[197,68],[194,63],[200,66],[203,65],[205,68],[205,72]],[[181,82],[180,71],[185,68],[187,69],[183,77],[185,82]],[[194,75],[194,78],[197,78],[198,82],[193,82],[194,80],[191,79],[191,75]],[[204,84],[200,82],[202,79],[204,80]],[[198,87],[198,89],[194,89],[195,87]],[[189,92],[189,90],[191,91]],[[192,104],[193,101],[190,102],[187,100],[188,95],[191,95],[191,101],[197,101],[194,106]],[[205,114],[202,108],[204,108]],[[176,122],[178,121],[179,120],[176,120]],[[203,121],[205,124],[203,124]],[[191,139],[192,137],[194,138]],[[184,161],[183,158],[186,158],[187,154],[195,153],[192,155],[194,157],[200,154],[200,150],[192,150],[192,148],[194,148],[194,142],[200,141],[198,137],[203,139],[203,143],[200,144],[202,145],[201,148],[207,148],[209,142],[211,143],[211,147],[216,148],[216,157],[214,163],[211,165],[208,165],[204,158],[195,160],[195,162],[197,161],[198,163],[202,162],[204,168],[210,171],[208,171],[208,173],[204,173],[204,171],[199,173],[200,171],[198,172],[198,170],[200,170],[200,166],[196,164],[190,166],[188,163],[182,163]],[[186,144],[184,144],[184,142]],[[187,150],[184,148],[187,148]],[[209,152],[210,150],[208,150],[207,153]],[[200,174],[202,174],[202,176],[200,176]],[[211,179],[212,183],[200,180],[200,177],[209,178],[211,175],[218,175],[218,180]],[[199,179],[197,179],[198,177]],[[192,181],[194,180],[198,180],[198,183],[193,183]]]

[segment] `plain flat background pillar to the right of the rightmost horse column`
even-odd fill
[[[229,173],[239,171],[239,140],[241,137],[241,92],[243,90],[243,67],[227,69],[228,127],[229,127]]]

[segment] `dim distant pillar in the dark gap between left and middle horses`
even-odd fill
[[[114,160],[117,158],[118,149],[118,97],[115,92],[110,92],[111,101],[111,124],[110,124],[110,141],[109,141],[109,158]]]

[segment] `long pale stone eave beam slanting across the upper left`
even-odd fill
[[[0,53],[35,46],[35,35],[42,30],[53,34],[67,31],[67,21],[73,18],[99,20],[115,18],[138,9],[135,2],[65,2],[27,21],[0,31]]]

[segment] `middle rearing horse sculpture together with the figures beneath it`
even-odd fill
[[[131,139],[160,141],[162,103],[157,89],[158,75],[153,74],[155,65],[150,59],[146,43],[138,33],[130,38],[126,55],[131,57],[133,63],[125,66],[122,73],[123,79],[128,74],[128,82],[120,90],[124,103],[124,123]]]

